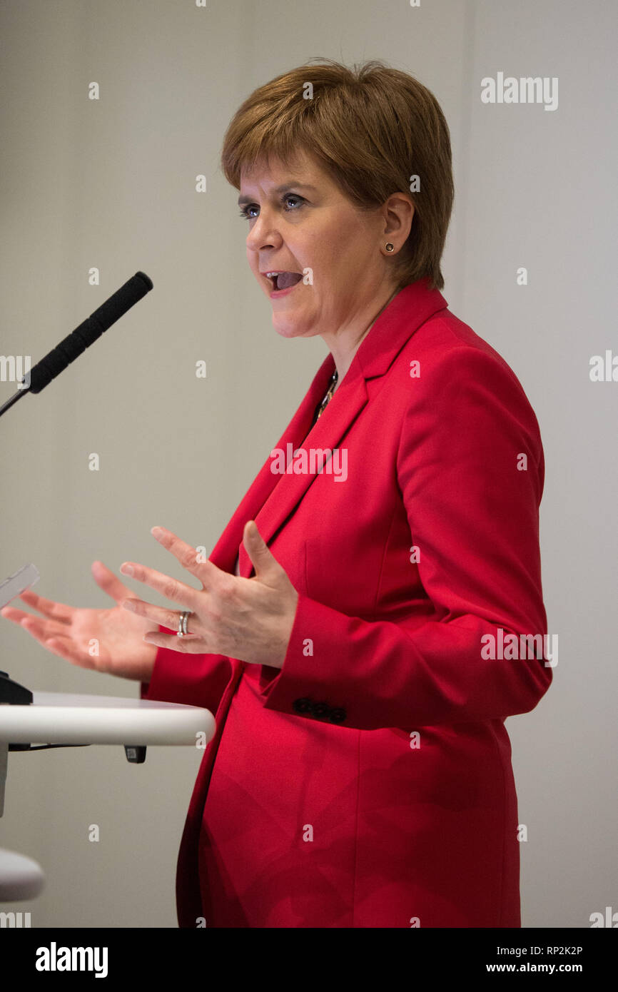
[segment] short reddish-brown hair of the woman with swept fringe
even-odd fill
[[[306,99],[307,84],[312,97]],[[242,169],[303,150],[361,209],[405,192],[415,205],[410,235],[393,256],[398,286],[425,276],[441,290],[440,260],[454,187],[448,126],[433,93],[408,72],[372,60],[348,68],[308,62],[259,86],[225,132],[221,168],[240,188]],[[419,177],[411,191],[411,177]]]

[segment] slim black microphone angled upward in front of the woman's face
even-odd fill
[[[94,310],[86,320],[75,327],[70,334],[67,334],[60,344],[57,344],[41,361],[37,362],[28,376],[20,379],[20,382],[26,382],[30,377],[30,385],[20,389],[0,407],[0,416],[25,393],[40,393],[42,389],[45,389],[67,365],[70,365],[82,351],[85,351],[93,341],[96,341],[104,330],[111,327],[112,323],[120,319],[152,288],[153,282],[146,273],[136,272],[135,276],[119,290],[116,290],[109,300]]]

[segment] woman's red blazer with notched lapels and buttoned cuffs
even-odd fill
[[[515,374],[446,308],[403,289],[311,430],[325,358],[276,445],[309,471],[269,454],[210,556],[250,576],[256,520],[299,592],[283,669],[159,649],[142,687],[217,723],[181,927],[521,926],[504,720],[552,671],[488,660],[482,638],[547,634],[543,447]],[[310,449],[337,449],[330,472]]]

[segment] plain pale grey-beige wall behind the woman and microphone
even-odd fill
[[[0,578],[34,561],[36,591],[73,605],[110,602],[91,575],[95,558],[185,577],[150,528],[210,550],[325,355],[318,337],[277,335],[249,271],[247,222],[218,166],[240,102],[315,56],[384,60],[437,97],[456,187],[443,296],[520,378],[546,452],[543,577],[559,661],[538,708],[507,723],[528,828],[524,927],[588,927],[591,913],[618,910],[618,383],[589,380],[590,357],[618,349],[617,23],[608,0],[0,7],[0,353],[34,364],[138,269],[155,284],[0,422]],[[498,71],[557,76],[556,111],[483,104],[480,80]],[[98,101],[87,95],[93,80]],[[0,383],[0,401],[15,388]],[[1,618],[0,651],[0,668],[32,688],[138,694]],[[47,888],[0,909],[31,911],[33,927],[175,927],[200,754],[152,747],[143,766],[121,747],[11,754],[0,845],[36,858]]]

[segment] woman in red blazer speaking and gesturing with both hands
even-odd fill
[[[516,376],[439,293],[443,115],[379,62],[308,64],[245,101],[222,165],[275,329],[329,354],[209,560],[154,530],[203,588],[121,567],[181,610],[95,563],[116,608],[28,592],[42,617],[3,615],[215,713],[182,927],[520,927],[504,720],[551,671],[488,645],[547,632],[544,458]]]

